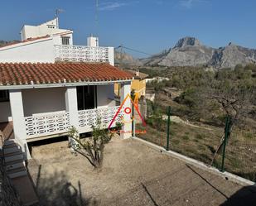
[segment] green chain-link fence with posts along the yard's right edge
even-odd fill
[[[213,165],[221,171],[256,181],[255,131],[234,126],[229,132],[229,119],[225,127],[215,127],[184,121],[169,114],[171,108],[154,105],[147,111],[147,133],[136,136],[166,150]],[[137,124],[136,128],[144,127]]]

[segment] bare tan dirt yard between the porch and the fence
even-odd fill
[[[41,205],[256,205],[254,187],[186,165],[133,139],[114,137],[100,171],[72,155],[67,141],[33,146],[32,156],[28,169]]]

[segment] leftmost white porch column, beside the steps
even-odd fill
[[[15,141],[17,141],[17,143],[22,146],[22,151],[25,154],[25,159],[28,160],[31,158],[31,156],[26,141],[27,131],[23,112],[22,90],[10,90],[9,93]]]

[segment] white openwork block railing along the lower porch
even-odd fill
[[[118,112],[119,107],[96,108],[78,111],[79,131],[90,132],[92,126],[100,117],[102,123],[107,128]],[[118,113],[115,122],[120,121],[122,113]],[[68,132],[70,128],[70,114],[65,112],[46,113],[25,117],[27,138],[46,137]],[[115,122],[112,127],[115,127]]]

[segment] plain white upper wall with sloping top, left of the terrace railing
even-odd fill
[[[31,41],[0,49],[0,62],[55,62],[54,42],[52,38]]]

